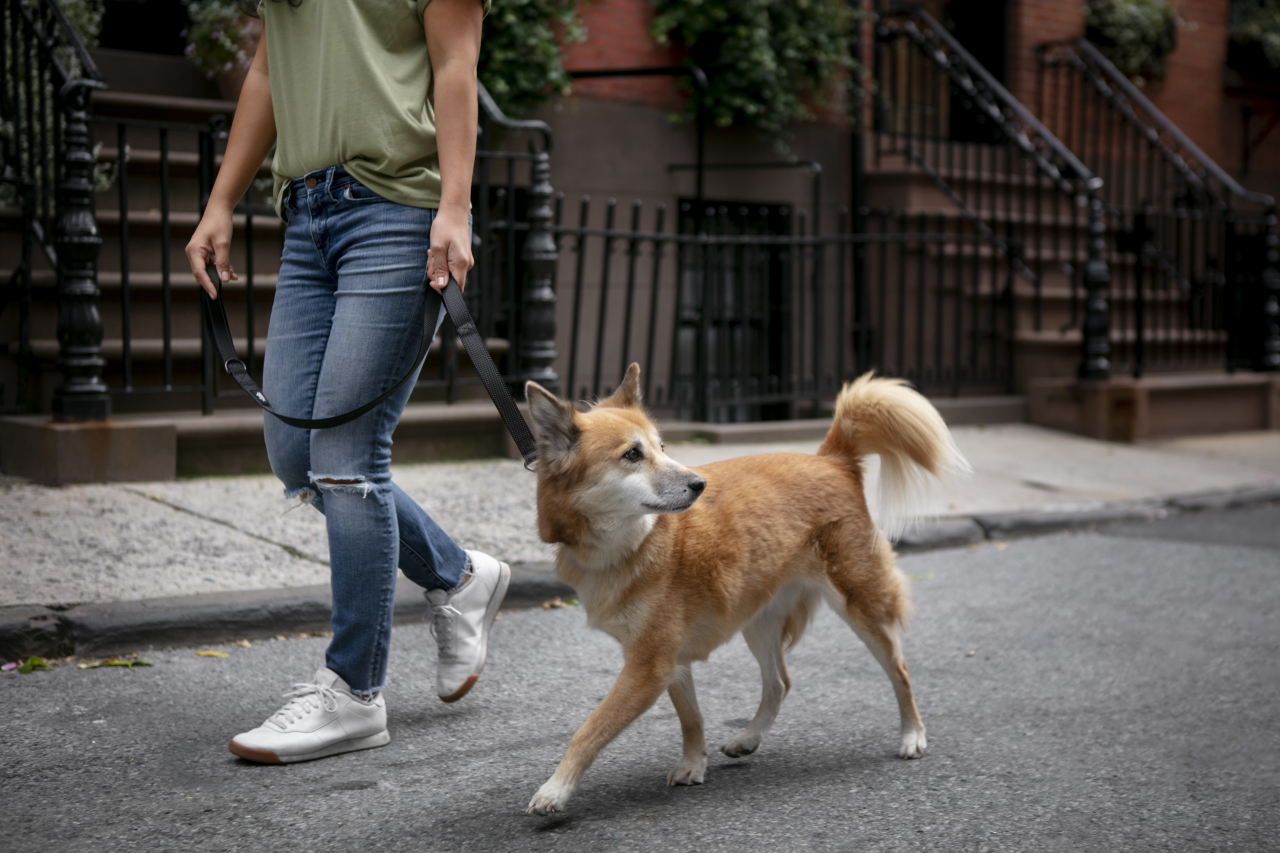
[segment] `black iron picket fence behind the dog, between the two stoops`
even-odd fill
[[[576,211],[557,199],[568,396],[609,393],[631,362],[648,403],[684,420],[817,416],[872,369],[931,393],[1007,391],[1012,315],[970,223],[876,210],[850,233],[841,209],[818,233],[803,209],[718,204],[699,218],[692,205],[671,216],[635,201],[621,225],[613,199],[594,216],[589,199]]]

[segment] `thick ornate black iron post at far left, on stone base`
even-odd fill
[[[102,237],[93,218],[93,152],[88,101],[92,81],[64,90],[67,113],[61,210],[54,229],[58,247],[58,366],[54,420],[106,420],[111,397],[102,382],[102,315],[99,313],[97,255]]]

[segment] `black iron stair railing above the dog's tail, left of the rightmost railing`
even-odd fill
[[[1005,332],[1007,361],[1015,336],[1059,343],[1078,332],[1078,375],[1107,378],[1102,181],[918,6],[879,13],[873,69],[873,168],[923,174],[937,191],[925,206],[980,237],[970,263],[988,311],[1029,304],[1030,328]],[[1046,320],[1064,305],[1068,316]]]

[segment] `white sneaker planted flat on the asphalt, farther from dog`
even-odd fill
[[[311,684],[294,684],[288,703],[257,729],[232,738],[230,751],[247,761],[284,765],[371,749],[390,743],[387,701],[364,702],[337,672],[321,669]]]

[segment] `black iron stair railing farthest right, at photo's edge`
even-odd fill
[[[1117,366],[1280,369],[1275,200],[1240,187],[1088,41],[1038,56],[1041,117],[1105,179]]]

